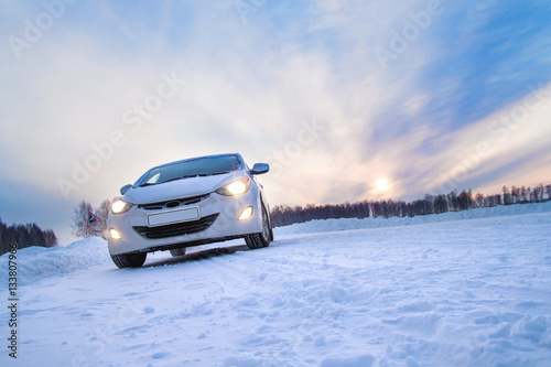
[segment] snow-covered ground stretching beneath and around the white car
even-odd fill
[[[20,250],[19,358],[0,365],[550,365],[551,203],[276,236],[125,270],[100,239]]]

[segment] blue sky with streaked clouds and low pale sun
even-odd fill
[[[271,206],[551,183],[551,1],[2,1],[0,217],[62,245],[153,165]]]

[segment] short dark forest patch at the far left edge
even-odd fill
[[[0,218],[0,255],[10,250],[10,244],[17,242],[18,248],[31,246],[54,247],[57,237],[52,229],[43,230],[35,223],[7,226]]]

